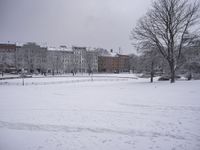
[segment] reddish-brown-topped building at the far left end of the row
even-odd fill
[[[16,45],[0,44],[0,71],[10,72],[16,69]]]

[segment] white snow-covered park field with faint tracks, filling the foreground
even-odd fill
[[[97,76],[0,81],[0,150],[200,149],[200,81]]]

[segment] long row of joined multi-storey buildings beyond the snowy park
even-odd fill
[[[128,72],[129,57],[102,48],[0,44],[0,71],[28,73]]]

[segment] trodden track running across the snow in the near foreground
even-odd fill
[[[152,131],[137,131],[137,130],[114,130],[108,128],[91,128],[91,127],[70,127],[66,125],[48,125],[48,124],[30,124],[30,123],[11,123],[0,121],[0,128],[11,130],[24,130],[24,131],[45,131],[45,132],[93,132],[93,133],[110,133],[121,134],[126,136],[139,136],[139,137],[168,137],[177,140],[185,140],[184,136],[173,135],[170,133],[159,133]]]

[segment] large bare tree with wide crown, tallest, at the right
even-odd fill
[[[157,0],[131,32],[138,49],[156,48],[167,60],[171,83],[181,59],[182,49],[196,38],[199,22],[199,2],[189,0]],[[196,30],[195,30],[196,29]],[[190,38],[187,39],[187,35]]]

